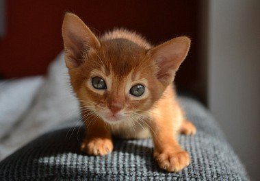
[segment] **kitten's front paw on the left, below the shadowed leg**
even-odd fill
[[[113,143],[109,138],[86,138],[81,143],[81,151],[89,155],[106,155],[112,150]]]

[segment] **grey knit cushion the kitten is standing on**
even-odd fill
[[[83,128],[73,131],[70,125],[36,138],[2,160],[0,180],[248,180],[211,114],[194,99],[181,97],[181,104],[198,132],[179,136],[191,155],[191,164],[180,173],[157,167],[151,139],[116,140],[112,154],[86,156],[79,151]]]

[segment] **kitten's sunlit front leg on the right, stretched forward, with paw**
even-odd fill
[[[181,171],[190,164],[189,154],[181,148],[177,141],[177,130],[174,126],[182,121],[181,115],[172,117],[165,112],[163,117],[155,116],[151,122],[155,150],[153,156],[161,169]],[[175,120],[172,120],[175,119]]]

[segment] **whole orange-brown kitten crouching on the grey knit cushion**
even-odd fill
[[[196,128],[185,119],[172,86],[190,38],[153,47],[125,29],[97,37],[71,13],[64,17],[62,36],[70,82],[86,125],[81,150],[105,155],[113,150],[112,135],[152,137],[153,157],[161,169],[187,167],[190,156],[177,136],[195,134]]]

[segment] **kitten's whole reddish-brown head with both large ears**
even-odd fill
[[[97,38],[70,13],[64,18],[62,36],[70,82],[81,106],[108,123],[135,119],[151,109],[174,80],[190,47],[187,37],[157,47],[125,38]]]

